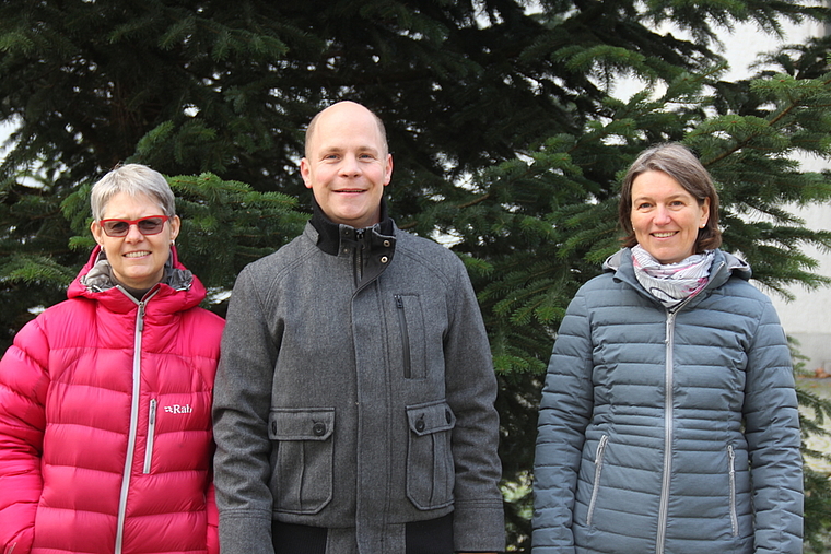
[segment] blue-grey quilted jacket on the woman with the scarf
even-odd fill
[[[801,553],[791,354],[749,267],[716,250],[667,310],[629,249],[572,300],[535,461],[535,554]]]

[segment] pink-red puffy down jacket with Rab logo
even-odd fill
[[[86,286],[97,257],[0,361],[0,554],[218,553],[223,320],[175,249],[172,286],[142,304]]]

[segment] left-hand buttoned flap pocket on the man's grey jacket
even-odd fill
[[[274,510],[317,514],[332,498],[335,409],[278,409],[269,415]]]

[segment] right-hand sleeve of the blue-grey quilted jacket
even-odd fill
[[[756,510],[756,552],[803,552],[803,464],[791,352],[766,298],[748,347],[745,435]]]

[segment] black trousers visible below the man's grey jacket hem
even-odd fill
[[[271,524],[274,554],[326,554],[327,533],[324,527]],[[407,554],[453,554],[453,514],[407,523],[405,537]]]

